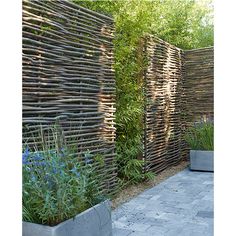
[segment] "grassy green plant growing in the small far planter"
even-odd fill
[[[185,134],[192,150],[214,150],[214,126],[212,123],[195,124]]]

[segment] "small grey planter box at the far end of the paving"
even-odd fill
[[[190,169],[214,171],[214,151],[190,150]]]

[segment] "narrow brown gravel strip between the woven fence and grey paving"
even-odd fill
[[[115,209],[122,203],[129,201],[131,198],[137,196],[139,193],[143,192],[144,190],[149,189],[161,183],[165,179],[177,174],[181,170],[185,169],[188,165],[189,165],[189,162],[183,161],[177,166],[169,167],[168,169],[157,174],[154,180],[150,180],[144,183],[140,183],[137,185],[130,185],[126,187],[125,189],[121,190],[112,200],[112,209]]]

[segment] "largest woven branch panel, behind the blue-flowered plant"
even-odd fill
[[[113,20],[68,1],[23,1],[23,142],[56,121],[77,154],[105,158],[116,185]],[[48,137],[50,139],[50,135]]]

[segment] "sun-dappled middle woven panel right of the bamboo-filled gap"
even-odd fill
[[[149,65],[145,81],[145,170],[158,173],[178,164],[186,155],[183,144],[185,114],[183,51],[156,37],[146,39]]]

